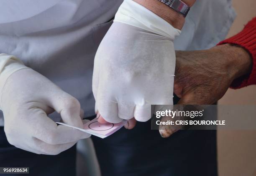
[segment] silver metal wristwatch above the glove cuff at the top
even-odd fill
[[[189,12],[189,6],[185,3],[183,3],[181,0],[159,0],[162,3],[165,3],[170,8],[175,10],[178,13],[181,13],[184,17],[187,16],[187,13]]]

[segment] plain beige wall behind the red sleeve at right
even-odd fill
[[[233,0],[233,6],[237,18],[228,37],[256,17],[256,0]],[[256,85],[228,90],[219,104],[256,105]],[[218,131],[218,161],[219,176],[256,176],[256,131]]]

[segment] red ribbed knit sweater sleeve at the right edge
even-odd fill
[[[231,88],[242,88],[248,85],[256,84],[256,18],[253,18],[243,30],[235,36],[223,40],[218,45],[231,43],[240,45],[245,48],[253,59],[253,66],[251,73],[237,78],[231,84]]]

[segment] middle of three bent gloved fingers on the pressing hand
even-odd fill
[[[129,120],[134,117],[134,103],[120,103],[118,102],[118,117]]]

